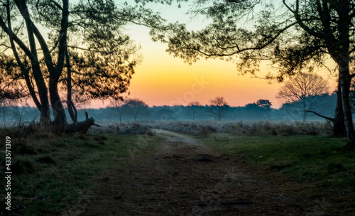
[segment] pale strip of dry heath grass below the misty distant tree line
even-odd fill
[[[138,121],[119,123],[99,121],[102,127],[92,131],[117,134],[149,134],[163,129],[190,135],[230,133],[242,136],[293,136],[332,134],[326,122],[319,121]]]

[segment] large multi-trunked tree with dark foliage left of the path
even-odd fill
[[[20,97],[16,90],[26,89],[40,111],[43,129],[87,131],[95,125],[94,119],[86,113],[84,121],[77,121],[72,95],[109,99],[126,92],[141,57],[139,47],[121,29],[127,23],[157,26],[161,21],[143,7],[112,0],[72,4],[68,0],[4,0],[0,6],[1,80],[18,87],[10,88],[16,97]],[[46,32],[48,37],[43,36]],[[67,123],[60,98],[63,91],[72,124]]]

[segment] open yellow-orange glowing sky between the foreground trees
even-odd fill
[[[184,14],[185,6],[178,9],[176,5],[156,4],[153,9],[160,11],[170,21],[187,23],[191,29],[206,24],[204,20],[191,21]],[[273,108],[279,108],[282,104],[275,98],[282,83],[269,84],[267,80],[252,78],[251,75],[238,75],[235,63],[224,60],[200,60],[188,65],[184,60],[166,53],[166,44],[151,41],[148,28],[129,26],[126,32],[141,45],[140,52],[144,58],[131,79],[129,97],[142,99],[148,106],[187,105],[195,101],[209,104],[214,97],[224,97],[230,106],[244,106],[258,99],[269,99]],[[267,65],[261,67],[261,77],[269,71],[267,68]],[[320,74],[329,80],[333,91],[336,86],[334,78],[329,77],[329,72]],[[107,104],[108,101],[94,102],[92,107],[104,107]]]

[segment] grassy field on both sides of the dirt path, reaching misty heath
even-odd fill
[[[82,214],[87,207],[85,200],[94,196],[92,191],[111,180],[109,173],[133,167],[142,158],[154,157],[164,148],[167,138],[155,129],[188,134],[184,136],[220,153],[219,160],[223,163],[234,164],[230,166],[254,173],[257,178],[278,176],[278,180],[290,184],[283,189],[287,193],[325,199],[332,214],[349,215],[354,211],[355,153],[342,149],[346,139],[331,137],[327,123],[99,121],[97,124],[101,126],[93,127],[87,134],[59,136],[1,129],[1,136],[11,136],[13,145],[13,215]],[[1,157],[1,169],[4,163]],[[197,162],[191,164],[194,163]],[[1,196],[5,193],[1,188]]]

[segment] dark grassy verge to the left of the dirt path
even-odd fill
[[[95,188],[102,173],[127,163],[131,157],[153,153],[163,140],[161,136],[117,134],[11,137],[12,215],[60,215]],[[4,160],[3,148],[1,170]],[[6,197],[5,187],[0,193]]]

